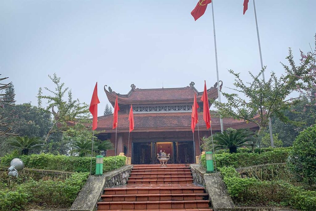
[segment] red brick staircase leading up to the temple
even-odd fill
[[[188,164],[134,165],[126,185],[104,189],[98,211],[212,211],[208,198],[193,184]]]

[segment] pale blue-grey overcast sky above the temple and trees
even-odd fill
[[[73,98],[90,103],[98,82],[98,114],[108,100],[103,90],[127,94],[137,88],[185,87],[203,91],[216,83],[212,10],[196,22],[197,0],[10,0],[0,1],[0,74],[15,86],[16,103],[37,104],[39,87],[54,89],[56,73]],[[260,69],[253,3],[213,0],[219,79],[231,92],[240,72],[244,81]],[[316,33],[316,1],[256,0],[266,79],[284,73],[280,62],[291,47],[308,51]],[[43,94],[48,94],[44,91]],[[225,102],[225,99],[222,99]],[[212,108],[211,108],[212,109]]]

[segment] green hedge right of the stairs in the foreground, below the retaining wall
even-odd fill
[[[243,205],[279,204],[300,210],[316,210],[316,191],[295,187],[283,181],[240,178],[233,167],[220,168],[229,195]]]

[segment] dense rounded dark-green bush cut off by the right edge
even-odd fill
[[[293,174],[316,188],[316,125],[296,137],[288,165]]]

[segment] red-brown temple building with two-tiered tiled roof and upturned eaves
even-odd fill
[[[222,89],[222,84],[219,86]],[[209,99],[218,97],[217,83],[207,90]],[[131,158],[132,164],[156,164],[157,153],[160,150],[170,153],[168,163],[184,164],[195,163],[196,156],[200,155],[202,137],[211,135],[210,129],[206,129],[203,121],[203,102],[200,102],[203,92],[194,87],[194,82],[181,88],[139,89],[131,84],[131,90],[127,94],[114,92],[110,87],[104,91],[109,102],[114,107],[118,96],[119,114],[117,127],[117,154],[124,152]],[[194,94],[197,94],[199,102],[199,134],[197,127],[193,133],[191,130],[191,112]],[[134,130],[129,137],[129,111],[133,107]],[[211,116],[212,132],[221,130],[219,118]],[[112,130],[113,114],[98,117],[100,140],[110,139],[115,144],[115,129]],[[232,128],[253,128],[253,123],[232,118],[223,119],[224,130]],[[106,156],[113,156],[114,150],[108,150]]]

